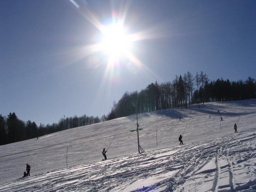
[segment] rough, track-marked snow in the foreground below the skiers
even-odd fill
[[[256,191],[256,128],[0,184],[0,191]]]

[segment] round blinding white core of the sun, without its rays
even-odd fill
[[[122,24],[104,26],[101,32],[101,50],[109,58],[119,59],[131,52],[132,39]]]

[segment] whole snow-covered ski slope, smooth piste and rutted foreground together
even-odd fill
[[[0,146],[0,191],[256,191],[255,114],[256,100],[139,114],[140,154],[136,115]]]

